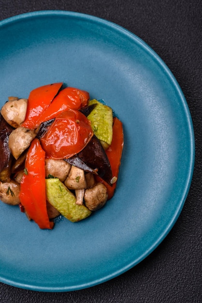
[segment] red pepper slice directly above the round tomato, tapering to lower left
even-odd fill
[[[60,91],[48,108],[40,116],[38,123],[56,118],[56,116],[69,108],[80,109],[87,106],[89,93],[72,87]]]

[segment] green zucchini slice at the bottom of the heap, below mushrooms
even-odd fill
[[[58,179],[46,179],[46,198],[65,218],[77,222],[87,218],[91,211],[84,205],[76,204],[76,197]]]

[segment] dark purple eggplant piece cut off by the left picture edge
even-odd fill
[[[0,181],[2,182],[10,179],[13,156],[8,148],[8,139],[13,130],[14,128],[0,114]]]

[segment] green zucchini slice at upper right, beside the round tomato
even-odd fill
[[[113,136],[112,108],[102,104],[96,99],[88,102],[88,106],[92,104],[97,104],[97,106],[87,116],[87,119],[91,121],[91,126],[95,136],[97,136],[100,141],[103,141],[110,146]]]

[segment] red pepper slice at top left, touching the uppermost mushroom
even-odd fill
[[[28,108],[22,127],[35,129],[43,111],[50,105],[62,86],[62,82],[38,87],[29,93]]]

